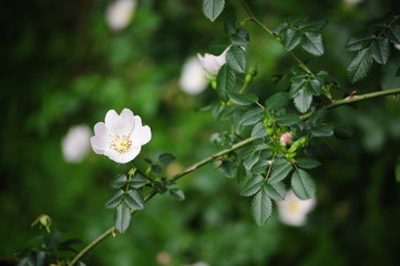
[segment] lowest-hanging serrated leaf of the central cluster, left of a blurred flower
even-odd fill
[[[258,226],[264,225],[273,213],[273,203],[267,193],[259,191],[252,201],[252,214]]]

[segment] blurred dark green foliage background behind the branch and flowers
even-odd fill
[[[246,18],[238,1],[227,2],[226,11]],[[351,54],[345,50],[347,39],[362,32],[370,19],[399,12],[398,0],[249,2],[269,28],[289,17],[327,19],[326,54],[300,55],[311,60],[311,69],[338,78],[345,90],[399,86],[393,73],[400,51],[393,48],[384,68],[376,66],[368,79],[350,85],[346,66]],[[0,257],[12,257],[40,234],[30,224],[42,213],[65,237],[84,244],[112,225],[113,212],[103,207],[112,193],[109,182],[129,165],[116,167],[92,151],[82,162],[65,161],[61,143],[71,126],[93,129],[109,110],[129,108],[152,127],[144,156],[170,152],[177,157],[168,173],[216,152],[211,135],[228,129],[209,112],[196,111],[215,100],[211,88],[189,95],[178,83],[185,61],[224,35],[227,12],[211,23],[201,0],[139,0],[126,28],[113,30],[105,14],[111,3],[0,2]],[[277,90],[271,75],[293,61],[255,24],[246,29],[248,62],[258,65],[250,90],[265,98]],[[274,212],[266,226],[257,227],[239,186],[208,165],[178,183],[186,201],[156,196],[134,216],[127,234],[102,243],[88,265],[162,265],[160,253],[171,256],[167,265],[399,265],[399,100],[343,106],[329,119],[351,126],[355,137],[327,140],[338,157],[319,156],[324,164],[311,172],[317,207],[305,226],[284,225]]]

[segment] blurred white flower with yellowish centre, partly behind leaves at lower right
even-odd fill
[[[316,198],[306,201],[298,198],[293,190],[286,194],[285,201],[277,202],[279,219],[287,225],[302,226],[307,222],[307,214],[315,207]]]

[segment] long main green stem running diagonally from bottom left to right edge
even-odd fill
[[[242,0],[240,0],[242,1]],[[375,99],[375,98],[381,98],[381,96],[387,96],[387,95],[396,95],[396,94],[400,94],[400,88],[397,89],[391,89],[391,90],[384,90],[384,91],[377,91],[377,92],[371,92],[371,93],[367,93],[367,94],[362,94],[362,95],[356,95],[351,99],[342,99],[342,100],[336,100],[334,103],[329,104],[326,106],[327,110],[329,109],[334,109],[334,108],[338,108],[341,105],[346,105],[346,104],[350,104],[350,103],[355,103],[355,102],[361,102],[361,101],[366,101],[366,100],[370,100],[370,99]],[[301,116],[302,120],[307,120],[311,116],[311,113],[307,113],[304,114]],[[215,154],[209,155],[208,157],[193,164],[191,167],[186,168],[185,171],[183,171],[182,173],[175,175],[172,180],[173,181],[177,181],[180,178],[182,178],[183,176],[192,173],[193,171],[197,170],[198,167],[214,161],[215,158],[218,158],[223,155],[226,155],[239,147],[243,147],[249,143],[252,143],[253,141],[255,141],[256,139],[254,137],[248,137],[245,139],[234,145],[232,145],[228,149],[225,149],[220,152],[217,152]],[[145,202],[148,202],[150,200],[152,200],[155,195],[157,194],[157,192],[155,190],[151,191],[148,193],[148,195],[145,197]],[[136,211],[132,212],[132,214],[136,213]],[[96,246],[99,243],[101,243],[102,241],[104,241],[107,236],[112,235],[114,233],[115,228],[111,227],[110,229],[105,231],[102,235],[100,235],[98,238],[95,238],[94,241],[92,241],[86,247],[84,247],[74,258],[73,260],[68,265],[68,266],[73,266],[78,263],[78,260],[84,255],[86,254],[89,250],[91,250],[94,246]]]

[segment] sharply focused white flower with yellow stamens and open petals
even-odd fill
[[[142,145],[150,142],[152,132],[147,125],[142,125],[142,119],[133,115],[129,109],[119,115],[110,110],[105,115],[105,123],[94,125],[94,136],[91,139],[92,149],[116,163],[127,163],[141,152]]]

